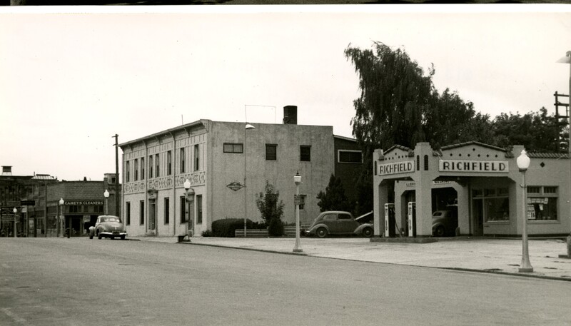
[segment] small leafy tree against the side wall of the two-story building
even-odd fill
[[[266,180],[264,193],[258,195],[256,205],[258,206],[258,210],[260,210],[261,218],[263,218],[268,225],[269,235],[283,234],[283,223],[281,221],[283,201],[279,200],[279,198],[280,192],[276,191],[273,185]]]

